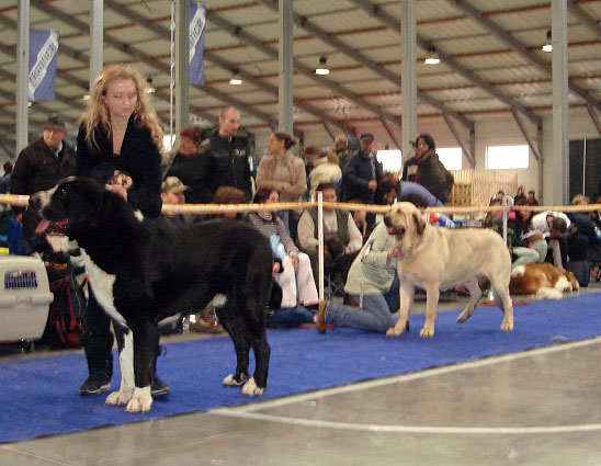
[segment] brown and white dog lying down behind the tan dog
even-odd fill
[[[580,289],[574,274],[549,263],[518,265],[511,271],[509,292],[512,295],[534,295],[541,299],[562,299],[564,293]]]

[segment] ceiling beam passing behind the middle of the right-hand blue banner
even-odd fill
[[[131,8],[121,4],[121,3],[116,2],[115,0],[104,0],[104,5],[110,8],[114,12],[122,14],[123,16],[125,16],[129,20],[134,20],[141,27],[157,34],[157,36],[171,41],[171,33],[170,33],[169,29],[160,26],[158,24],[155,24],[154,22],[151,22],[147,18],[143,16],[141,14],[136,13]],[[209,15],[209,12],[211,12],[211,10],[207,12],[207,15]],[[212,61],[213,64],[215,64],[216,66],[218,66],[223,69],[227,69],[228,71],[231,71],[234,68],[239,69],[238,65],[236,65],[231,61],[228,61],[224,58],[220,58],[218,55],[213,54],[213,53],[211,53],[206,49],[204,50],[204,58],[208,61]],[[240,76],[242,77],[242,79],[251,82],[253,86],[262,89],[265,92],[269,92],[273,95],[277,95],[277,87],[276,86],[270,84],[267,81],[264,81],[263,79],[260,79],[260,78],[253,76],[252,73],[245,71],[243,69],[239,69],[239,71],[240,71]],[[331,123],[336,126],[341,127],[342,129],[348,129],[347,124],[344,124],[343,122],[332,117],[331,115],[327,114],[326,112],[319,110],[318,107],[316,107],[311,104],[295,104],[295,106],[297,106],[298,109],[304,110],[305,112],[316,116],[317,118],[319,118],[321,121],[329,122],[329,123]]]

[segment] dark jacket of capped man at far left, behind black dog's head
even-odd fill
[[[49,190],[58,180],[73,173],[75,157],[69,146],[63,141],[57,157],[41,137],[19,155],[11,175],[10,191],[11,194],[31,195]]]

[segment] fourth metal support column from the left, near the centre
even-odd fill
[[[287,134],[293,133],[293,100],[294,89],[292,84],[293,75],[293,24],[294,12],[292,9],[292,0],[280,0],[279,3],[279,68],[280,68],[280,86],[279,86],[279,124],[280,128]]]

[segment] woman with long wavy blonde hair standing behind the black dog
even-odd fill
[[[127,65],[105,67],[92,84],[88,110],[81,117],[76,174],[112,184],[114,191],[146,217],[158,217],[161,149],[162,130],[140,73]],[[111,321],[93,289],[90,289],[83,325],[83,349],[90,375],[79,391],[98,395],[111,387],[113,337]],[[155,375],[152,396],[167,393],[169,387]]]

